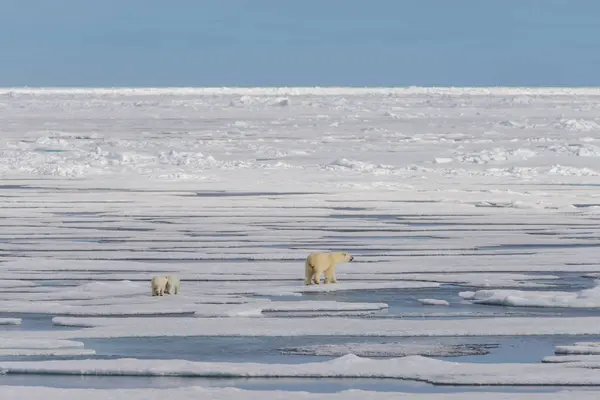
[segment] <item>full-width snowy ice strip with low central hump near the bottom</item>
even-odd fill
[[[595,369],[579,363],[474,364],[421,356],[391,359],[353,354],[323,362],[258,364],[183,360],[0,361],[6,374],[261,378],[395,378],[462,385],[600,385]]]

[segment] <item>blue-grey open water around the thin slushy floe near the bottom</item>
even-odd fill
[[[77,339],[79,340],[79,339]],[[288,355],[287,348],[322,344],[401,343],[414,345],[489,345],[485,355],[432,357],[474,363],[539,363],[554,354],[557,345],[575,341],[600,341],[600,336],[475,336],[475,337],[153,337],[81,339],[96,350],[94,358],[183,359],[210,362],[257,362],[296,364],[331,360],[333,356]]]

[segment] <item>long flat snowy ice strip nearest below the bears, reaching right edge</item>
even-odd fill
[[[301,321],[286,318],[199,319],[156,317],[154,324],[143,318],[54,317],[57,326],[86,327],[84,330],[53,331],[48,337],[111,338],[157,336],[528,336],[600,335],[600,317],[548,317],[531,323],[527,317],[403,320],[310,317]],[[25,332],[23,333],[25,334]],[[36,338],[36,332],[26,332]],[[0,332],[0,340],[3,337]]]

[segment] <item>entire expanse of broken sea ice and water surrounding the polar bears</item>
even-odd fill
[[[0,98],[0,363],[33,362],[0,384],[595,390],[597,93],[331,90],[285,107],[269,90]],[[304,258],[325,250],[356,261],[336,285],[304,286]],[[159,274],[179,276],[181,295],[152,298]],[[382,368],[399,376],[456,362],[466,378],[445,364],[389,379],[324,377],[329,364],[303,378],[35,371],[131,358],[167,374],[182,372],[173,360],[363,374],[349,353],[414,360]],[[547,364],[581,373],[535,369]]]

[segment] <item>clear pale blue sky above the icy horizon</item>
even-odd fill
[[[596,0],[0,0],[0,86],[600,86]]]

